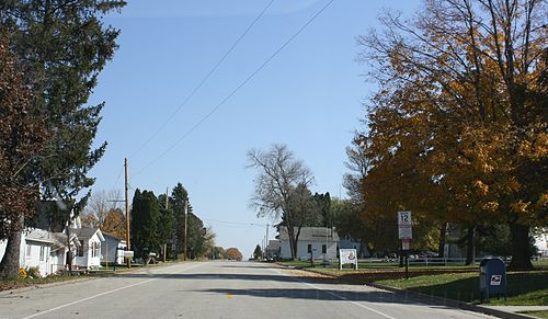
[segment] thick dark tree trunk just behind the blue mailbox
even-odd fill
[[[529,227],[518,224],[510,224],[510,233],[512,236],[512,261],[509,270],[530,271],[530,248],[529,248]]]

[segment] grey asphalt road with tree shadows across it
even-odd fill
[[[251,262],[201,262],[0,293],[0,318],[490,318]]]

